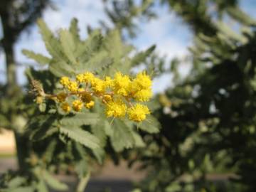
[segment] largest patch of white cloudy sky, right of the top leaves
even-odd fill
[[[186,47],[191,43],[191,39],[184,42],[184,38],[189,38],[190,35],[188,28],[169,11],[163,11],[159,14],[159,18],[144,23],[140,28],[139,38],[143,38],[144,41],[135,39],[133,43],[139,49],[145,49],[151,44],[156,44],[156,50],[162,55],[167,55],[168,58],[186,54]]]

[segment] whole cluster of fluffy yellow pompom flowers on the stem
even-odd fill
[[[68,77],[60,79],[60,84],[65,87],[65,92],[56,95],[64,112],[70,112],[71,107],[66,101],[69,96],[77,98],[72,102],[72,109],[80,112],[82,107],[87,109],[95,105],[97,97],[105,105],[107,117],[127,117],[134,122],[142,122],[150,114],[149,108],[134,102],[146,102],[152,97],[151,78],[145,72],[138,73],[135,78],[117,72],[114,78],[106,76],[97,78],[90,72],[78,74],[75,80]]]

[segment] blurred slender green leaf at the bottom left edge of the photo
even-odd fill
[[[68,186],[65,183],[61,183],[56,178],[54,178],[48,171],[43,171],[43,179],[46,181],[50,188],[58,191],[67,191]]]

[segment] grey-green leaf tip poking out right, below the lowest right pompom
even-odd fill
[[[151,115],[146,117],[146,119],[138,124],[139,129],[142,129],[144,132],[148,133],[158,133],[161,128],[161,124],[157,121],[157,119]]]

